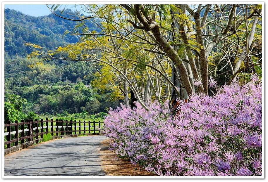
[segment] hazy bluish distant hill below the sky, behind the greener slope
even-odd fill
[[[63,12],[57,10],[56,13],[66,18],[77,19],[75,12],[71,9],[66,9]],[[23,45],[26,42],[38,44],[47,49],[63,46],[63,33],[66,30],[71,31],[73,27],[81,23],[80,21],[65,20],[53,13],[34,17],[9,8],[4,10],[4,20],[5,53],[11,58],[14,56],[24,57],[30,53],[29,48]],[[90,31],[100,31],[89,21],[85,21],[85,24]],[[64,41],[76,43],[78,38],[67,34]]]

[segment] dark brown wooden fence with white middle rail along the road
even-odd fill
[[[32,119],[27,121],[21,120],[21,122],[15,121],[15,123],[7,121],[7,124],[5,124],[6,133],[4,133],[4,136],[7,136],[5,145],[7,145],[7,148],[11,148],[11,143],[15,143],[16,146],[19,141],[21,141],[21,143],[25,143],[26,140],[32,141],[33,139],[38,139],[39,136],[40,138],[43,138],[43,135],[48,133],[51,133],[51,135],[55,133],[56,136],[85,134],[86,132],[95,134],[101,132],[100,128],[102,126],[104,126],[104,122],[100,121],[63,121],[62,119],[59,121],[58,119],[53,121],[53,119],[48,120],[47,118],[46,120],[40,119],[40,121],[37,119],[35,119],[35,121]],[[11,138],[14,139],[11,140]]]

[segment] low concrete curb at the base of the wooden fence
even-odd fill
[[[81,136],[81,135],[87,135],[87,136],[90,136],[90,135],[102,135],[102,133],[94,133],[94,134],[93,133],[85,133],[85,134],[51,136],[51,140],[59,139],[59,138],[77,137],[77,136]],[[25,142],[25,143],[19,144],[17,146],[13,146],[11,148],[6,148],[5,149],[5,155],[11,154],[13,152],[16,152],[16,151],[19,151],[19,150],[22,150],[22,149],[25,149],[27,147],[30,147],[32,145],[35,145],[35,144],[41,143],[41,142],[43,142],[43,138],[38,138],[38,139],[32,140],[30,142]]]

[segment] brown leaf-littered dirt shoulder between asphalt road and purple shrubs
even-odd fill
[[[142,170],[133,165],[128,159],[117,159],[117,156],[108,148],[110,139],[101,142],[101,165],[108,176],[155,176],[153,173]]]

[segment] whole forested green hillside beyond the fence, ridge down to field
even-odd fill
[[[56,13],[75,18],[70,9],[57,10]],[[4,20],[5,120],[25,119],[32,112],[37,115],[95,114],[118,106],[120,99],[111,98],[109,88],[94,86],[93,89],[91,86],[91,82],[97,79],[95,72],[100,66],[59,59],[41,61],[27,58],[31,50],[25,43],[38,44],[47,50],[76,43],[77,37],[63,35],[78,25],[77,22],[64,20],[53,13],[34,17],[8,8],[5,9]],[[91,31],[100,30],[90,22],[85,23]],[[21,104],[16,109],[18,101]],[[12,117],[6,114],[12,111]]]

